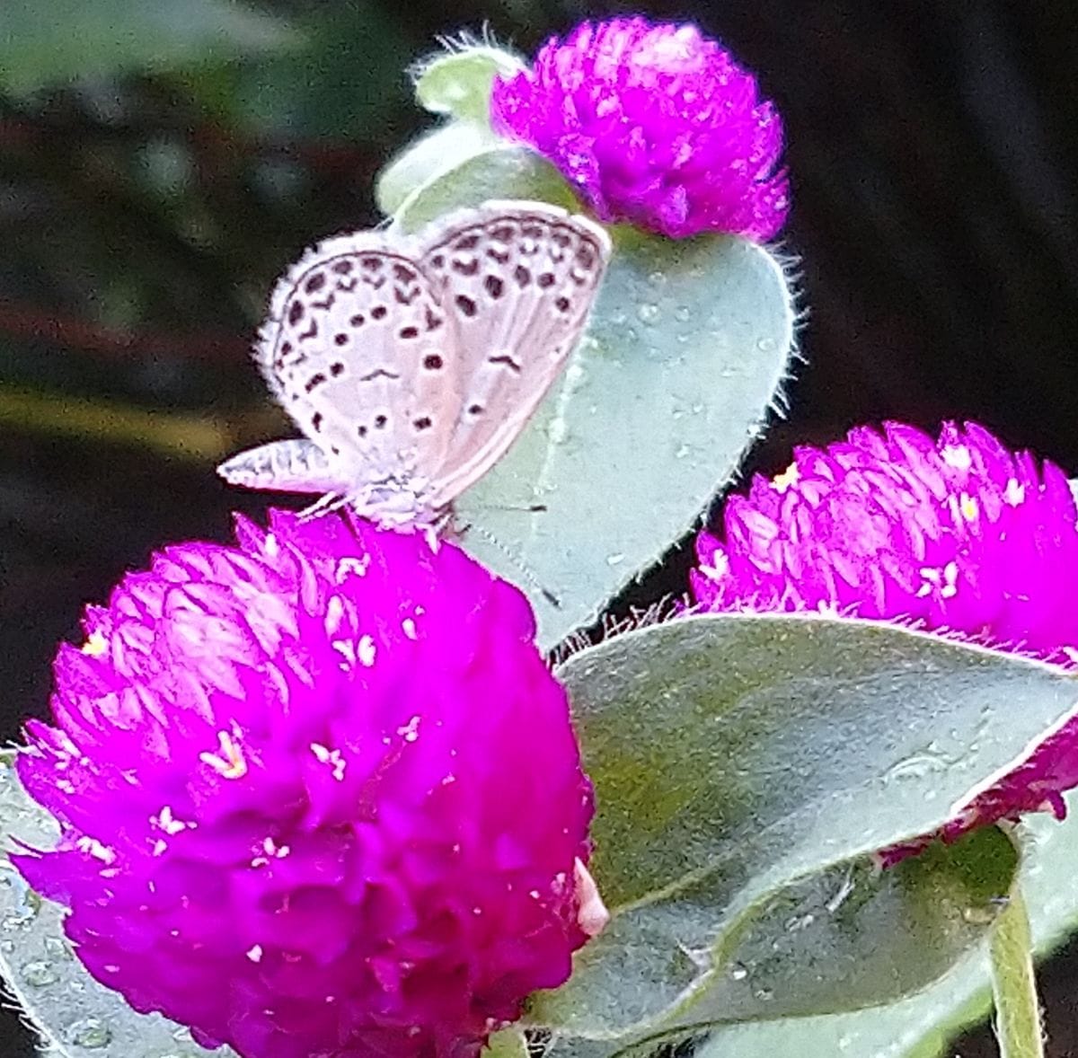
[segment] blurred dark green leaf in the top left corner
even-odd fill
[[[279,18],[225,0],[49,0],[0,4],[0,87],[275,52],[294,43]]]

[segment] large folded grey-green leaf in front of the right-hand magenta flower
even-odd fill
[[[620,1043],[856,1008],[938,977],[991,922],[1012,861],[987,837],[882,875],[858,858],[937,830],[1078,700],[1048,665],[792,614],[652,626],[558,676],[612,917],[533,1016]]]

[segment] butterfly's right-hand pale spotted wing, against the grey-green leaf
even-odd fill
[[[432,475],[442,507],[506,453],[583,334],[610,239],[542,203],[490,201],[420,236],[419,264],[445,310],[462,402]]]

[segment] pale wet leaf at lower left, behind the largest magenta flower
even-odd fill
[[[27,797],[10,756],[0,757],[0,988],[57,1058],[197,1058],[186,1029],[160,1014],[136,1014],[74,958],[63,909],[31,890],[8,861],[12,838],[52,848],[53,818]],[[227,1047],[212,1052],[233,1056]]]

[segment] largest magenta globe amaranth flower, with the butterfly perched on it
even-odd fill
[[[237,534],[156,555],[61,646],[18,760],[61,836],[14,860],[98,980],[204,1045],[475,1054],[602,924],[531,611],[419,533]]]

